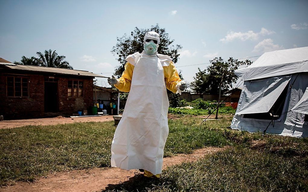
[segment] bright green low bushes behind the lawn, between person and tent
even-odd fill
[[[181,100],[180,106],[182,107],[169,107],[168,112],[171,114],[178,115],[208,115],[217,108],[217,101],[205,101],[201,98],[196,99],[192,102],[186,102],[185,100]],[[190,109],[189,107],[193,108]],[[235,109],[229,106],[226,107],[224,103],[221,103],[218,112],[220,114],[234,114]]]

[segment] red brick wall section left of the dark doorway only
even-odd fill
[[[5,120],[43,116],[44,76],[27,75],[29,77],[29,97],[7,97],[6,76],[0,73],[0,115],[3,115]]]

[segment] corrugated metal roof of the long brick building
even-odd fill
[[[75,70],[75,69],[62,69],[54,67],[40,67],[33,65],[16,65],[14,63],[0,62],[1,65],[5,65],[9,69],[34,71],[34,72],[51,72],[58,74],[77,75],[77,76],[92,76],[92,77],[105,77],[89,71]]]

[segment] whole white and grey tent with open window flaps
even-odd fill
[[[308,136],[308,47],[266,52],[235,74],[244,85],[232,129]]]

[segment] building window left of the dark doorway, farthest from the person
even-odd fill
[[[28,97],[29,78],[28,77],[6,77],[6,95],[8,97]]]

